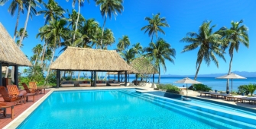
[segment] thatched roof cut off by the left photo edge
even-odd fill
[[[2,66],[20,65],[32,66],[31,62],[16,45],[5,27],[0,23],[0,62]]]

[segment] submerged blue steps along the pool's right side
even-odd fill
[[[200,119],[200,121],[204,121],[205,123],[207,123],[209,121],[211,121],[211,122],[214,121],[213,123],[215,123],[215,126],[217,126],[218,128],[223,127],[222,123],[229,123],[230,125],[240,124],[240,125],[248,127],[248,128],[256,128],[254,126],[254,124],[248,124],[248,123],[241,122],[241,121],[235,121],[235,120],[232,120],[229,118],[225,118],[222,115],[215,115],[215,114],[212,114],[209,112],[204,112],[204,111],[200,111],[198,109],[194,109],[193,108],[194,105],[189,105],[189,104],[179,105],[179,104],[176,104],[173,102],[168,102],[168,101],[166,101],[166,99],[156,97],[156,96],[145,95],[145,94],[141,94],[141,93],[132,93],[132,92],[124,92],[124,91],[122,91],[122,92],[127,93],[131,96],[139,97],[141,99],[152,102],[154,104],[160,105],[166,109],[183,112],[184,115],[190,115],[190,117],[192,117],[192,118],[196,117],[196,119]],[[214,118],[214,120],[212,118]],[[236,128],[236,127],[239,128],[239,126],[234,126],[234,128]]]

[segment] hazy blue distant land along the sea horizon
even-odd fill
[[[233,73],[238,74],[242,77],[256,77],[256,72],[248,72],[248,71],[233,71]],[[198,77],[220,77],[227,73],[222,74],[199,74]],[[168,74],[168,75],[161,75],[161,77],[194,77],[195,75],[175,75],[175,74]]]

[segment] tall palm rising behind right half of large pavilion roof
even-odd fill
[[[96,5],[100,5],[100,12],[102,14],[102,17],[105,17],[104,24],[102,26],[102,39],[100,41],[100,46],[102,46],[105,20],[107,19],[107,16],[111,18],[112,14],[114,15],[114,17],[116,17],[118,13],[121,14],[122,11],[124,10],[122,3],[123,3],[123,0],[96,0]]]

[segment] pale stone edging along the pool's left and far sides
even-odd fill
[[[139,87],[94,87],[94,89],[86,88],[86,87],[76,87],[76,88],[65,87],[65,88],[48,89],[50,91],[46,95],[44,95],[37,102],[34,102],[33,105],[31,105],[28,109],[26,109],[24,112],[22,112],[21,115],[18,115],[17,118],[15,118],[13,121],[11,121],[9,124],[7,124],[5,127],[3,127],[3,129],[17,128],[54,91],[68,91],[68,90],[118,90],[118,89],[138,89],[138,90],[143,90],[143,89],[141,89]]]

